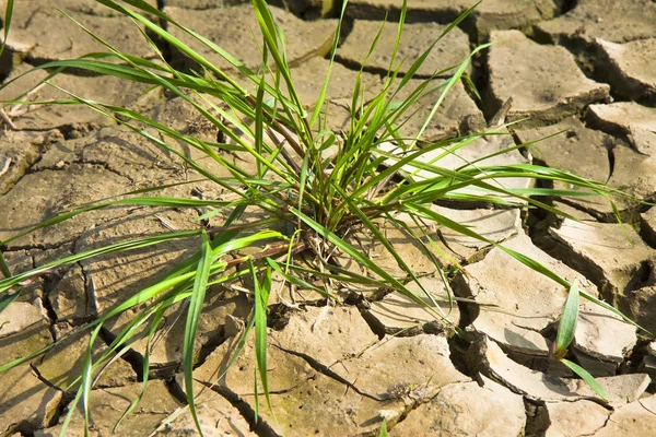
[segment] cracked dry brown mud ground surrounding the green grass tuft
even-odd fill
[[[4,2],[2,2],[4,3]],[[246,64],[258,63],[248,5],[223,0],[162,0],[151,3],[218,42]],[[229,4],[230,3],[230,4]],[[288,36],[293,76],[304,102],[315,102],[327,71],[325,43],[335,20],[316,17],[317,1],[290,2],[274,16]],[[337,52],[329,86],[332,128],[345,121],[360,62],[385,14],[398,19],[401,0],[352,0],[348,32]],[[400,57],[408,66],[469,0],[409,0]],[[4,4],[2,4],[4,7]],[[92,0],[17,1],[1,72],[15,78],[34,66],[68,59],[97,46],[54,7],[71,13],[120,50],[154,57],[134,25]],[[382,85],[395,38],[387,24],[363,73],[366,92]],[[178,35],[184,38],[184,35]],[[412,81],[460,62],[477,44],[493,46],[468,70],[482,94],[472,98],[458,84],[426,130],[427,140],[481,131],[501,105],[513,98],[507,120],[513,134],[482,138],[461,157],[441,162],[458,167],[494,151],[564,133],[491,158],[487,164],[540,163],[621,187],[640,199],[656,200],[656,3],[648,0],[483,0],[473,14],[437,45]],[[189,44],[194,45],[192,42]],[[203,55],[218,59],[201,47]],[[173,62],[187,59],[168,50]],[[401,69],[400,73],[405,73]],[[2,99],[30,90],[46,75],[35,73],[1,92]],[[440,79],[435,79],[440,81]],[[54,82],[75,94],[147,111],[175,129],[215,135],[197,122],[189,106],[140,84],[77,75]],[[58,97],[51,87],[35,99]],[[402,96],[401,96],[402,97]],[[415,132],[436,95],[417,105],[402,133]],[[142,138],[81,107],[5,108],[11,129],[0,135],[0,240],[54,216],[71,204],[197,177],[179,161]],[[410,111],[412,113],[412,110]],[[190,151],[192,156],[194,151]],[[195,156],[200,158],[200,156]],[[231,157],[243,166],[254,163]],[[430,157],[429,157],[430,158]],[[202,160],[201,160],[202,162]],[[203,162],[218,175],[225,170]],[[526,180],[514,180],[527,187]],[[569,187],[555,187],[569,188]],[[206,182],[168,188],[169,196],[219,198]],[[435,204],[440,213],[472,226],[488,238],[534,257],[656,332],[656,209],[620,204],[625,226],[613,223],[604,199],[558,198],[553,204],[578,221],[551,214],[490,209],[484,204]],[[129,236],[194,229],[203,211],[114,208],[78,216],[3,247],[12,271]],[[250,216],[258,220],[257,214]],[[402,218],[402,217],[401,217]],[[403,257],[435,294],[443,292],[431,263],[406,235],[380,224]],[[354,291],[361,298],[329,306],[298,291],[300,309],[284,304],[289,291],[271,303],[269,381],[273,411],[254,412],[254,344],[223,378],[251,302],[248,284],[208,293],[197,338],[195,379],[198,413],[209,436],[375,435],[387,421],[393,436],[647,436],[656,435],[656,343],[599,307],[582,304],[571,358],[588,369],[608,393],[601,401],[567,368],[549,356],[554,326],[566,291],[511,260],[499,249],[442,231],[444,249],[466,265],[452,281],[457,306],[445,310],[469,331],[471,343],[453,335],[422,307],[398,294]],[[398,272],[380,247],[362,249]],[[437,238],[435,238],[437,240]],[[82,261],[45,275],[0,315],[0,363],[47,345],[139,290],[197,240],[167,243],[153,250]],[[350,269],[355,267],[345,265]],[[285,297],[286,295],[286,297]],[[362,298],[365,296],[366,298]],[[473,304],[475,302],[476,304]],[[165,317],[150,358],[150,385],[119,435],[187,436],[195,427],[184,405],[180,377],[186,309]],[[94,354],[101,354],[130,320],[107,323]],[[74,394],[69,387],[82,366],[87,334],[78,334],[43,358],[0,378],[0,435],[56,436]],[[112,433],[116,420],[140,391],[144,342],[102,374],[91,397],[92,435]],[[260,399],[261,402],[261,399]],[[75,412],[69,435],[82,435]]]

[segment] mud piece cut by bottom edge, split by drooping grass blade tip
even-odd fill
[[[219,393],[206,389],[195,399],[196,414],[206,436],[256,437],[250,425],[239,411]],[[198,429],[188,406],[175,410],[151,434],[153,437],[174,436],[188,437],[196,435]]]

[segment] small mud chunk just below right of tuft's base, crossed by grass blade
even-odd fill
[[[408,336],[423,332],[450,333],[453,327],[458,326],[460,310],[455,300],[449,305],[442,280],[435,276],[423,276],[419,282],[432,299],[425,296],[415,282],[410,282],[407,287],[424,303],[423,305],[398,292],[370,304],[371,306],[363,311],[363,316],[375,331]],[[433,299],[437,303],[438,309],[433,306]]]

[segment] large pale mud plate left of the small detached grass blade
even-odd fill
[[[539,250],[523,233],[504,241],[503,247],[540,262],[566,281],[577,279],[582,288],[596,294],[594,286],[582,275]],[[499,269],[499,265],[508,268]],[[526,355],[531,359],[547,358],[550,342],[541,331],[555,322],[562,311],[567,295],[563,286],[494,248],[482,261],[467,265],[466,274],[458,276],[455,290],[462,297],[497,306],[472,310],[476,312],[472,316],[478,316],[472,322],[476,331],[524,356],[519,361],[526,361]]]

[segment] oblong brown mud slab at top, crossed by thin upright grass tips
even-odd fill
[[[380,31],[380,26],[383,26],[383,31],[379,39],[370,54],[370,48],[374,44],[378,31]],[[435,43],[445,28],[446,26],[433,23],[406,24],[397,57],[391,68],[396,69],[398,63],[402,62],[398,72],[399,75],[406,74],[414,61],[431,48],[431,45]],[[337,57],[340,62],[352,66],[354,69],[364,67],[365,70],[387,74],[397,39],[397,31],[398,24],[396,23],[383,24],[377,21],[356,20],[345,43],[337,50]],[[455,72],[455,69],[450,68],[458,66],[468,56],[469,39],[462,31],[455,27],[435,44],[414,76],[431,78],[435,73],[440,73],[442,78],[450,76]],[[364,66],[363,62],[365,62]],[[443,70],[446,71],[442,72]]]

